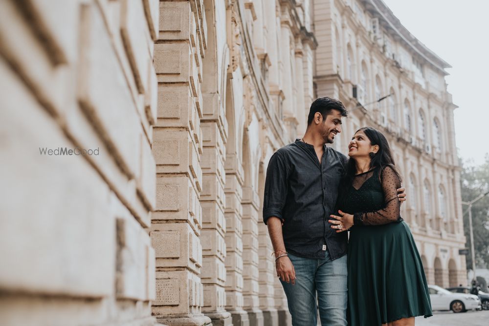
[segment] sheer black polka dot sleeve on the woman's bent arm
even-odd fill
[[[400,201],[397,189],[400,188],[400,179],[394,169],[386,166],[380,176],[384,191],[385,207],[375,212],[358,212],[354,214],[355,225],[381,225],[397,222],[400,217]]]

